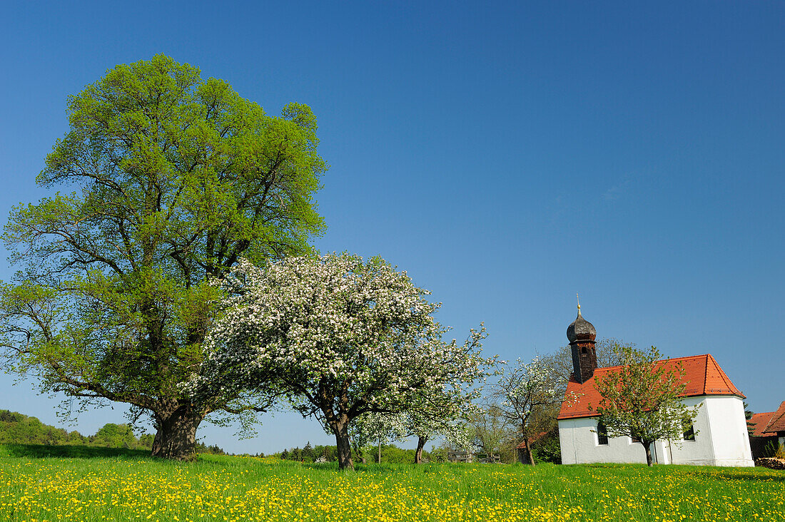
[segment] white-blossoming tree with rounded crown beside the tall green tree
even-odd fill
[[[334,433],[341,469],[352,467],[349,425],[360,415],[462,402],[495,364],[480,352],[484,329],[462,345],[443,341],[429,292],[378,257],[241,261],[225,284],[235,297],[206,343],[195,393],[279,392]]]

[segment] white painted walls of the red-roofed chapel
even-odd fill
[[[752,466],[750,440],[744,405],[738,396],[685,397],[688,406],[700,403],[693,424],[695,440],[658,440],[652,458],[658,464]],[[568,418],[559,421],[559,441],[563,464],[592,462],[646,462],[646,452],[630,437],[597,440],[597,418]]]

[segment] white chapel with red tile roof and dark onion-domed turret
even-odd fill
[[[597,424],[596,407],[601,401],[594,386],[595,378],[621,367],[597,368],[594,341],[597,331],[581,316],[567,329],[572,350],[573,373],[562,403],[559,442],[563,464],[590,462],[646,462],[644,447],[628,436],[609,437]],[[701,404],[692,429],[680,440],[657,440],[652,444],[652,457],[658,464],[754,465],[744,416],[744,396],[733,385],[722,368],[709,354],[662,360],[660,364],[685,370],[687,387],[682,396],[692,407]],[[782,409],[782,408],[781,408]],[[783,415],[785,417],[785,415]],[[785,421],[785,418],[783,418]],[[785,429],[785,428],[783,428]],[[785,433],[783,433],[785,435]]]

